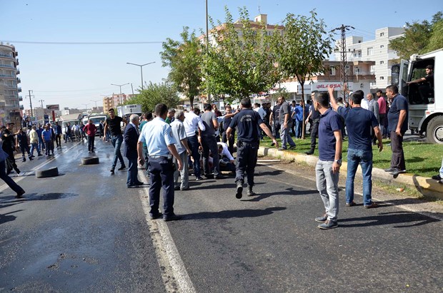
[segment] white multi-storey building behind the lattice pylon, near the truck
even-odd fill
[[[375,82],[371,83],[371,91],[384,89],[391,84],[391,66],[398,63],[397,52],[389,49],[389,41],[398,38],[404,33],[403,28],[387,27],[375,31],[375,39],[363,41],[362,36],[350,36],[346,38],[347,61],[374,61],[371,72],[375,74]],[[339,41],[336,43],[339,48]],[[340,50],[334,55],[336,60],[340,60]]]

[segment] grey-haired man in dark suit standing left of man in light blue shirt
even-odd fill
[[[144,185],[137,178],[137,143],[139,141],[139,115],[131,114],[129,116],[129,124],[124,128],[123,134],[124,140],[124,155],[129,161],[128,178],[126,180],[126,186],[128,188],[134,188],[140,185]]]

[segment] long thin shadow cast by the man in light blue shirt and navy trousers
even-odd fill
[[[221,210],[220,212],[196,212],[195,214],[183,215],[182,220],[199,219],[231,219],[233,217],[262,217],[272,215],[279,210],[286,210],[286,207],[267,207],[264,210]]]

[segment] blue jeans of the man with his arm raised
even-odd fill
[[[372,150],[348,148],[348,171],[346,178],[346,202],[354,200],[354,178],[359,164],[363,175],[363,204],[372,204]]]

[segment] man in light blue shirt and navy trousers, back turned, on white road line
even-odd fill
[[[183,163],[179,153],[175,148],[176,140],[172,135],[171,126],[164,120],[168,113],[165,104],[155,106],[156,118],[146,123],[141,130],[139,143],[137,143],[137,153],[139,164],[144,165],[143,143],[149,153],[149,205],[151,210],[149,215],[151,220],[161,217],[159,212],[160,190],[163,186],[163,220],[179,220],[181,217],[174,214],[174,165],[172,155],[176,158],[178,170],[183,168]]]

